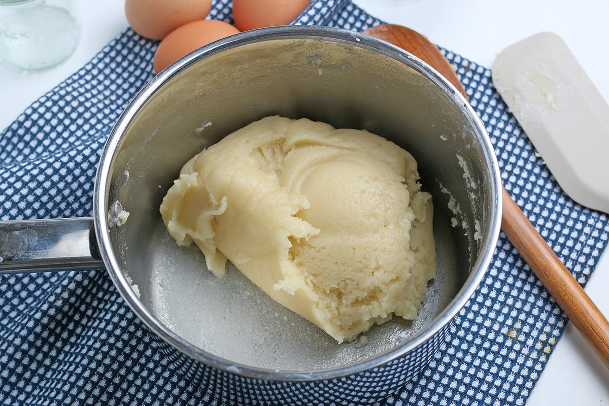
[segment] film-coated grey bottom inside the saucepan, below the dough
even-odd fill
[[[233,265],[224,278],[205,268],[194,246],[177,247],[157,222],[149,253],[149,306],[172,331],[204,351],[245,365],[288,371],[346,366],[395,348],[428,324],[454,297],[456,248],[446,219],[437,222],[438,278],[429,284],[417,318],[394,317],[356,340],[337,344],[319,327],[273,301]],[[462,282],[462,281],[461,281]],[[361,337],[361,336],[360,336]]]

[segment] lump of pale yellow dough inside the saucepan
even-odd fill
[[[194,156],[161,214],[209,270],[227,258],[337,341],[413,319],[435,277],[431,195],[410,153],[361,130],[266,117]]]

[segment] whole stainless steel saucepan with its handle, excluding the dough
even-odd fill
[[[200,252],[167,234],[159,206],[181,166],[274,114],[365,128],[415,156],[434,198],[438,260],[416,320],[395,318],[370,329],[365,345],[338,345],[239,271],[216,278]],[[370,403],[424,368],[479,285],[499,235],[500,191],[484,125],[428,65],[348,30],[271,27],[209,44],[148,83],[102,152],[94,217],[3,223],[0,271],[101,259],[152,332],[211,366],[207,385],[263,404]]]

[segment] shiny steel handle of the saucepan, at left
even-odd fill
[[[0,275],[103,267],[93,217],[0,222]]]

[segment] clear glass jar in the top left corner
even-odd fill
[[[0,0],[0,59],[19,69],[66,60],[82,31],[71,0]]]

